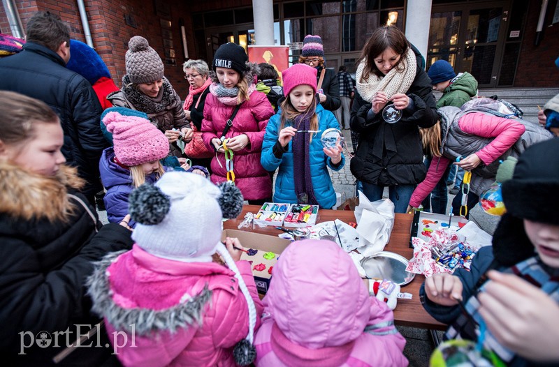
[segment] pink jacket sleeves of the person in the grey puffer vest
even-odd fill
[[[465,114],[458,121],[458,126],[464,133],[479,137],[495,137],[493,141],[484,148],[477,151],[476,155],[485,165],[489,165],[495,159],[502,156],[504,152],[518,141],[526,128],[522,123],[512,119],[502,119],[486,114]],[[427,177],[419,184],[409,205],[417,208],[431,191],[437,186],[437,183],[444,174],[444,170],[451,164],[451,160],[444,156],[433,157]]]

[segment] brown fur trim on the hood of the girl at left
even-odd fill
[[[80,190],[83,186],[74,167],[62,165],[55,176],[45,177],[0,162],[0,213],[21,220],[66,220],[74,209],[66,195],[68,188]]]

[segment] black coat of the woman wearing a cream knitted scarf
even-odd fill
[[[397,123],[386,123],[382,112],[368,112],[372,105],[356,93],[351,108],[351,130],[359,134],[356,156],[351,158],[351,173],[361,181],[381,186],[416,185],[425,179],[423,146],[419,127],[437,123],[437,108],[427,73],[417,68],[407,91],[413,105],[402,111]]]

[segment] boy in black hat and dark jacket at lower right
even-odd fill
[[[451,324],[447,338],[484,338],[484,348],[507,366],[559,362],[557,149],[559,140],[552,139],[520,156],[512,179],[502,184],[507,214],[493,247],[474,257],[472,271],[436,274],[420,290],[428,313]],[[460,312],[461,302],[467,314]],[[487,330],[481,336],[483,324]]]

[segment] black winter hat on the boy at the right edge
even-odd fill
[[[534,144],[521,154],[512,179],[502,184],[507,213],[559,225],[559,139]]]

